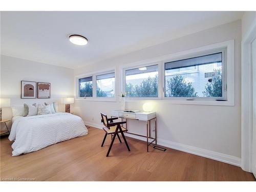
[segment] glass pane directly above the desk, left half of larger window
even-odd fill
[[[158,97],[158,66],[125,71],[127,97]]]

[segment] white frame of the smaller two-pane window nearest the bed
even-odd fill
[[[114,73],[115,74],[115,96],[114,97],[97,97],[97,75],[104,75],[108,73]],[[79,79],[80,78],[86,78],[86,77],[93,77],[93,96],[92,97],[79,97]],[[116,102],[117,98],[117,73],[116,73],[116,67],[95,71],[87,74],[80,74],[75,76],[75,100],[80,101],[110,101],[110,102]]]

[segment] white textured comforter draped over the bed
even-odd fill
[[[17,118],[12,124],[9,140],[15,140],[12,156],[17,156],[87,134],[87,127],[80,117],[55,113]]]

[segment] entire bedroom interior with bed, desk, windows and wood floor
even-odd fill
[[[245,10],[1,11],[1,180],[255,181]]]

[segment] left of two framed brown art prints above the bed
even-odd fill
[[[21,94],[22,99],[35,99],[36,98],[36,82],[35,81],[21,81]]]

